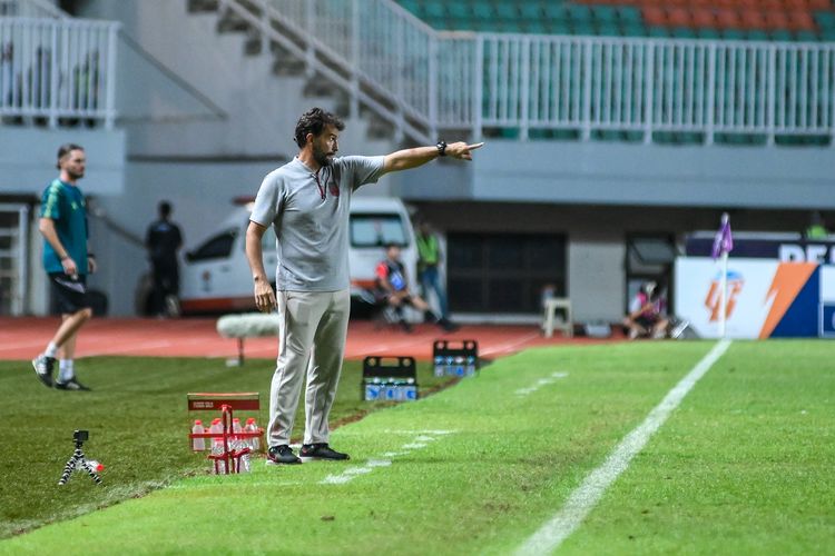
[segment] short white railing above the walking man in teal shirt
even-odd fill
[[[21,4],[22,6],[22,4]],[[119,24],[57,18],[0,18],[0,116],[61,122],[116,117]]]

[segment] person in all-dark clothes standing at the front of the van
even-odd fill
[[[154,285],[150,294],[150,314],[179,315],[179,262],[177,251],[183,247],[183,232],[171,221],[171,203],[160,201],[159,219],[148,226],[145,247],[148,249]]]

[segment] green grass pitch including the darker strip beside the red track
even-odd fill
[[[187,450],[184,394],[266,391],[272,361],[89,359],[90,394],[1,364],[0,512],[13,536],[0,553],[513,553],[713,346],[525,351],[340,427],[332,443],[351,461],[261,460],[229,477]],[[832,354],[826,341],[734,342],[559,553],[833,554]],[[370,409],[357,383],[351,365],[335,413]],[[108,466],[104,487],[78,474],[56,485],[75,428]]]

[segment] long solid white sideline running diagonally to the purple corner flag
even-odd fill
[[[730,346],[730,340],[725,339],[717,342],[696,364],[692,370],[667,393],[661,403],[644,419],[644,423],[629,433],[609,454],[606,461],[592,470],[582,484],[571,493],[562,509],[519,547],[517,554],[527,556],[529,554],[551,554],[556,550],[579,527],[589,512],[602,498],[606,489],[626,470],[629,461],[644,449],[652,434],[664,425],[664,421],[678,407],[696,383],[727,351],[728,346]]]

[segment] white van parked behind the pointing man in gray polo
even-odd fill
[[[252,199],[238,206],[223,221],[218,231],[186,254],[180,275],[183,314],[235,312],[255,310],[253,278],[246,260],[246,228]],[[391,197],[354,197],[348,222],[348,264],[351,295],[367,298],[363,290],[374,285],[374,270],[385,258],[384,246],[402,246],[401,259],[416,287],[418,248],[409,211],[400,199]],[[276,266],[275,234],[264,234],[264,268],[274,277]]]

